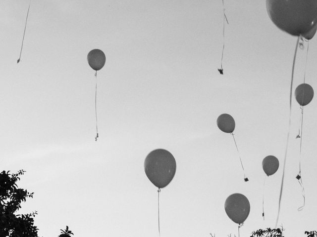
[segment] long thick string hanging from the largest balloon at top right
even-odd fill
[[[282,193],[283,193],[285,163],[286,163],[286,157],[287,157],[289,133],[290,133],[290,128],[291,128],[292,90],[293,90],[294,68],[295,68],[295,59],[296,59],[296,53],[297,53],[299,39],[300,39],[300,36],[297,38],[296,47],[295,47],[295,53],[294,53],[294,59],[293,59],[292,77],[291,77],[291,89],[290,89],[290,98],[289,98],[288,133],[287,133],[287,140],[286,140],[286,148],[285,148],[285,156],[284,156],[284,164],[283,164],[283,174],[282,174],[282,182],[281,182],[281,188],[280,188],[280,193],[279,193],[278,212],[277,212],[277,218],[276,218],[276,222],[275,222],[275,228],[277,226],[277,222],[278,222],[278,218],[279,218],[279,212],[280,212],[280,208],[281,208],[281,199],[282,199]]]

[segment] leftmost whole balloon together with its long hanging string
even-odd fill
[[[97,141],[98,134],[98,119],[97,119],[97,71],[102,69],[106,63],[106,55],[100,49],[93,49],[87,55],[87,60],[89,66],[95,70],[95,78],[96,78],[96,91],[95,91],[95,115],[96,115],[96,137],[95,141]]]

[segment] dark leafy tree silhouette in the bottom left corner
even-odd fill
[[[38,228],[34,226],[33,219],[37,212],[16,214],[21,202],[34,194],[18,188],[16,184],[25,171],[9,172],[0,173],[0,237],[38,237]]]

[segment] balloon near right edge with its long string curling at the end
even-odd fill
[[[304,118],[304,106],[308,105],[314,97],[314,89],[311,85],[305,83],[305,75],[304,75],[304,83],[300,84],[295,89],[295,98],[301,108],[301,129],[300,129],[300,155],[299,155],[299,172],[296,176],[301,188],[302,188],[302,196],[303,196],[303,205],[298,208],[299,211],[303,210],[305,206],[305,189],[303,185],[302,179],[302,169],[301,169],[301,157],[302,157],[302,139],[303,139],[303,118]]]

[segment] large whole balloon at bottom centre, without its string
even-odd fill
[[[145,158],[144,171],[156,187],[164,188],[175,175],[175,158],[164,149],[154,150]]]

